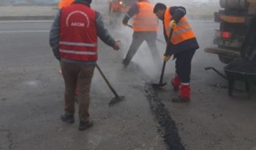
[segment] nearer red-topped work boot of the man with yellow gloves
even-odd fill
[[[190,102],[190,85],[181,84],[179,87],[178,98],[173,98],[172,102]]]

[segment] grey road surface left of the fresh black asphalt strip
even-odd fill
[[[166,149],[153,120],[136,68],[124,70],[122,52],[100,43],[99,61],[120,95],[113,95],[95,71],[90,113],[93,128],[78,131],[62,123],[64,83],[48,46],[51,23],[1,23],[1,149]],[[32,32],[31,30],[37,31]],[[16,32],[13,32],[16,30]],[[17,31],[20,30],[20,31]],[[45,31],[44,31],[45,30]],[[9,32],[10,31],[10,32]],[[128,74],[136,76],[128,76]]]

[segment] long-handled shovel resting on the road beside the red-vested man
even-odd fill
[[[120,96],[117,94],[117,92],[114,90],[114,88],[112,87],[112,85],[109,83],[108,79],[106,78],[106,76],[104,76],[103,72],[100,69],[100,66],[98,66],[98,64],[96,64],[96,68],[98,69],[98,71],[100,72],[101,76],[103,77],[103,79],[105,80],[106,84],[108,85],[108,87],[110,88],[110,90],[112,91],[112,93],[115,95],[114,98],[111,99],[111,101],[109,102],[109,106],[116,104],[117,102],[122,101],[123,99],[125,99],[125,96]]]

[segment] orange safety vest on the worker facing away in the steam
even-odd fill
[[[134,31],[157,31],[158,18],[153,13],[153,5],[148,1],[137,2],[139,13],[133,17]]]

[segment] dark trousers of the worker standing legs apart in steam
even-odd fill
[[[133,32],[133,41],[131,42],[131,46],[124,61],[129,64],[136,54],[137,49],[139,49],[139,46],[142,45],[143,41],[146,41],[154,61],[161,63],[161,57],[156,47],[156,36],[156,32]]]

